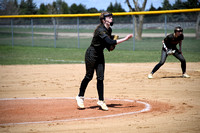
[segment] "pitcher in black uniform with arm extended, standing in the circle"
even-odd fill
[[[106,48],[108,51],[114,50],[115,46],[121,42],[124,42],[131,37],[132,34],[127,35],[125,38],[117,40],[117,36],[112,36],[113,25],[112,14],[108,12],[102,12],[100,15],[100,24],[94,31],[91,45],[85,53],[85,65],[86,75],[81,82],[79,94],[76,96],[77,104],[79,108],[84,108],[84,94],[88,83],[92,80],[94,70],[97,75],[97,91],[99,100],[97,104],[103,109],[108,110],[104,102],[104,69],[105,60],[103,50]]]

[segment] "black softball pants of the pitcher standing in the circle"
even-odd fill
[[[94,47],[90,46],[85,54],[86,75],[81,82],[79,96],[84,96],[88,83],[92,80],[94,71],[97,75],[97,91],[99,100],[104,101],[104,70],[105,60],[102,53],[97,53]]]

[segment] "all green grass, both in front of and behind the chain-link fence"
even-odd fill
[[[77,37],[62,37],[56,40],[54,48],[54,36],[34,34],[34,47],[32,47],[32,35],[30,28],[14,29],[14,47],[9,28],[0,28],[0,64],[65,64],[83,63],[86,49],[92,38],[80,38],[78,49]],[[131,29],[114,30],[115,33],[130,33]],[[34,29],[34,32],[53,32],[53,29]],[[76,32],[76,30],[61,30],[59,32]],[[80,30],[80,32],[93,32],[93,30]],[[194,33],[194,30],[184,30]],[[159,29],[147,29],[143,33],[163,33]],[[133,63],[133,62],[158,62],[163,38],[143,38],[142,41],[130,39],[116,47],[113,52],[105,50],[105,59],[109,63]],[[135,51],[133,51],[133,48]],[[183,41],[183,54],[188,62],[200,61],[200,40],[185,37]],[[177,62],[170,56],[167,61]]]

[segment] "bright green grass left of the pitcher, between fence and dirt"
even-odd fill
[[[0,46],[1,64],[81,63],[84,50],[24,46]]]

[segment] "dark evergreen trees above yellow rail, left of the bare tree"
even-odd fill
[[[125,12],[118,2],[110,3],[107,8],[112,12]],[[78,13],[98,13],[104,10],[97,10],[95,7],[87,9],[83,4],[72,4],[69,6],[64,0],[55,0],[49,4],[40,4],[39,8],[33,0],[0,1],[0,15],[30,15],[30,14],[78,14]]]

